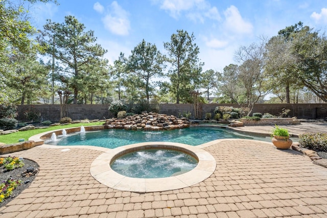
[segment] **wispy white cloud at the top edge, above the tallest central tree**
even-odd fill
[[[159,4],[160,9],[168,11],[169,15],[175,19],[185,12],[185,16],[194,22],[204,22],[205,18],[220,20],[220,15],[216,7],[205,0],[156,0],[154,4]]]

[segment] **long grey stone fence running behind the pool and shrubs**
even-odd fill
[[[199,117],[205,118],[205,113],[212,113],[217,106],[240,107],[237,104],[200,104]],[[60,118],[60,105],[18,105],[18,120],[26,120],[24,111],[33,107],[41,113],[42,120],[57,121]],[[112,118],[113,114],[108,110],[109,105],[67,105],[67,116],[75,119],[104,119]],[[297,118],[317,118],[318,109],[327,109],[327,104],[256,104],[252,112],[270,113],[278,115],[283,108],[290,109],[288,116]],[[159,104],[159,113],[179,117],[183,112],[191,112],[194,117],[193,104]]]

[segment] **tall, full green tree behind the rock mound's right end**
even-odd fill
[[[186,31],[177,30],[177,34],[172,34],[171,41],[164,43],[170,63],[170,91],[174,93],[177,104],[180,101],[192,102],[189,92],[199,85],[203,63],[199,61],[199,47],[193,43],[194,40],[193,33],[190,36]]]

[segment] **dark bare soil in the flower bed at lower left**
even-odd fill
[[[22,192],[24,189],[30,186],[32,181],[35,179],[36,175],[29,175],[26,174],[27,169],[29,167],[33,167],[34,169],[39,169],[39,165],[30,159],[23,160],[24,166],[21,168],[15,168],[12,171],[7,171],[4,165],[0,167],[0,183],[3,183],[4,181],[8,179],[14,179],[14,180],[21,180],[21,184],[18,185],[12,192],[12,195],[9,198],[6,198],[3,202],[0,203],[0,207],[5,206],[10,202],[12,199],[14,199],[16,196],[19,195],[20,192]],[[31,170],[32,168],[29,168]]]

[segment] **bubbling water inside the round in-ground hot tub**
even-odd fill
[[[115,159],[111,168],[132,178],[164,178],[191,171],[198,161],[189,154],[169,149],[131,152]]]

